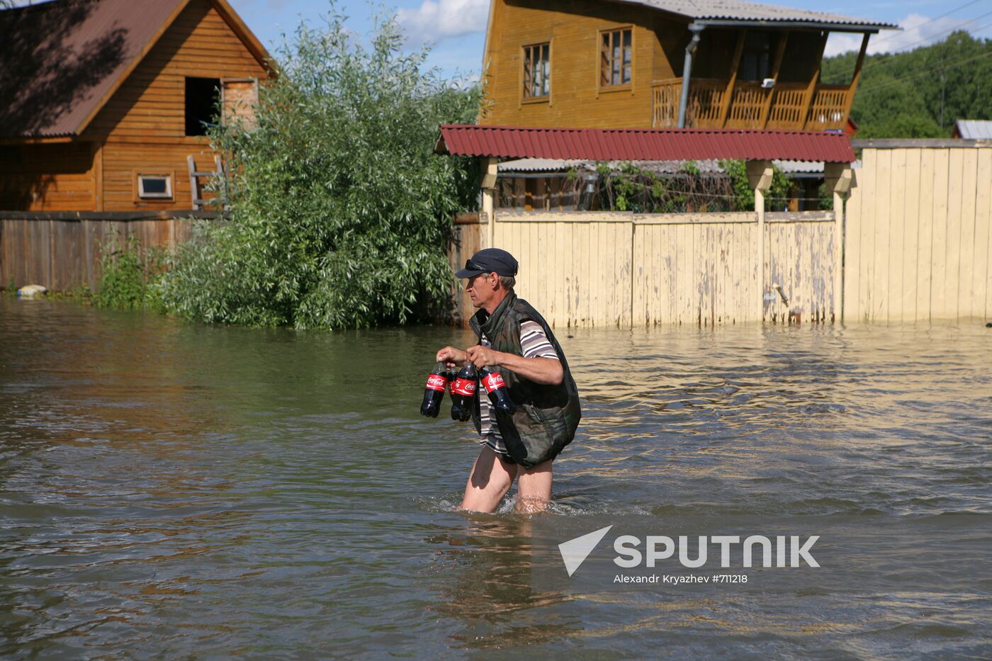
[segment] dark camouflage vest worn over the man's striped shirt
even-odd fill
[[[512,416],[497,416],[494,409],[492,415],[496,418],[510,459],[530,468],[555,459],[575,438],[575,430],[582,417],[578,389],[568,370],[564,351],[548,322],[527,301],[518,299],[514,292],[510,292],[500,302],[492,315],[487,315],[485,310],[475,313],[469,320],[469,326],[480,340],[484,333],[495,350],[523,355],[520,325],[527,321],[537,322],[548,335],[548,340],[555,347],[561,361],[564,378],[558,385],[535,383],[500,367],[499,371],[510,391],[510,399],[517,405],[517,411]],[[477,395],[484,396],[484,393]],[[476,431],[481,434],[482,423],[477,400],[472,411],[472,421]]]

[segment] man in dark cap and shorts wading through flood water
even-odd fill
[[[494,415],[476,388],[472,422],[482,449],[465,484],[461,509],[492,512],[517,478],[517,511],[548,508],[552,462],[575,436],[581,411],[568,362],[548,323],[513,291],[517,260],[506,250],[486,248],[465,262],[455,277],[479,309],[469,322],[479,343],[462,350],[445,346],[437,360],[460,367],[498,367],[517,410]]]

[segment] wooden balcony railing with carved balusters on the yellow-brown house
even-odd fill
[[[682,78],[658,80],[652,87],[655,128],[679,124]],[[688,128],[757,128],[821,131],[843,129],[850,111],[846,85],[780,82],[766,89],[758,82],[692,78],[685,105]]]

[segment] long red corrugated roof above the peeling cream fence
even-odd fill
[[[846,135],[818,131],[568,129],[441,124],[434,151],[451,156],[588,161],[854,161],[854,150]]]

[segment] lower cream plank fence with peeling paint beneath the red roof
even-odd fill
[[[459,235],[482,245],[487,229],[461,224]],[[756,212],[501,212],[493,239],[520,261],[517,291],[558,328],[834,316],[832,211],[765,213],[763,223]],[[462,301],[461,315],[470,312]]]

